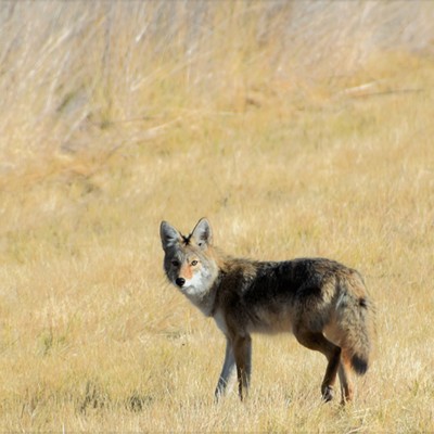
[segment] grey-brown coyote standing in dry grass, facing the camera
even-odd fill
[[[226,336],[217,400],[235,369],[240,399],[247,395],[254,332],[292,332],[302,345],[322,353],[328,360],[322,399],[333,398],[339,374],[342,404],[352,400],[349,368],[357,374],[367,371],[373,331],[373,305],[358,271],[324,258],[227,256],[214,247],[206,218],[189,235],[166,221],[159,233],[168,280]]]

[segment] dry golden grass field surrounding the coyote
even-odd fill
[[[2,3],[0,431],[434,432],[433,20]],[[158,234],[203,216],[228,253],[362,272],[354,404],[321,403],[326,360],[291,335],[255,336],[248,400],[214,404],[224,337],[166,283]]]

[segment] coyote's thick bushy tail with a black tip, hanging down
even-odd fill
[[[369,368],[374,335],[374,307],[355,271],[341,282],[336,305],[342,357],[362,375]]]

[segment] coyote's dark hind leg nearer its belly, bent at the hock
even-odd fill
[[[298,329],[294,334],[303,346],[320,352],[327,357],[328,365],[321,384],[321,394],[324,401],[332,400],[333,387],[340,368],[341,348],[328,341],[322,333]]]

